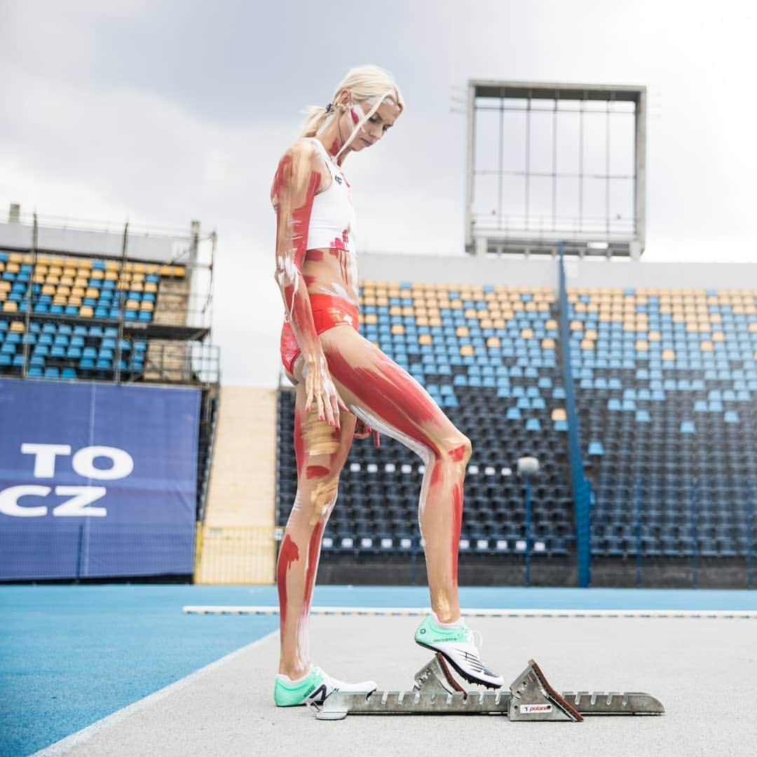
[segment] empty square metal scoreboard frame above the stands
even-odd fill
[[[484,111],[499,114],[495,165],[491,164],[494,161],[486,162],[480,154],[482,147],[492,147],[489,136],[477,139]],[[468,83],[467,112],[466,251],[469,254],[555,256],[562,241],[565,254],[640,257],[645,237],[646,87],[472,79]],[[532,120],[536,113],[551,115],[550,170],[534,170],[532,167]],[[515,129],[506,132],[506,114],[525,114],[522,135]],[[577,157],[578,170],[559,169],[558,142],[561,126],[562,133],[567,133],[566,114],[578,118],[578,139],[567,150],[573,153],[570,157]],[[603,170],[587,169],[587,147],[596,148],[593,142],[587,145],[587,114],[604,115]],[[634,119],[632,145],[621,147],[633,151],[633,170],[613,171],[612,124],[631,117]],[[505,157],[506,137],[512,141],[519,136],[525,141],[523,168],[507,165]],[[597,150],[593,149],[593,154],[596,153]],[[494,178],[496,198],[484,197],[482,182]],[[522,198],[518,201],[506,200],[506,179],[522,182]],[[537,207],[534,213],[533,179],[550,179],[548,212]],[[586,212],[585,193],[590,180],[603,183],[604,203],[600,215]],[[560,214],[558,188],[569,182],[575,185],[571,192],[574,210]],[[629,207],[623,207],[622,213],[613,215],[612,189],[624,185],[632,190]]]

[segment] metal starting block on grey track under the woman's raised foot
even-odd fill
[[[547,682],[541,668],[528,667],[509,691],[469,691],[454,678],[447,661],[437,653],[415,675],[411,691],[334,692],[323,702],[311,702],[319,720],[342,720],[347,715],[490,715],[512,721],[581,722],[584,715],[662,715],[665,708],[654,696],[637,692],[564,691]]]

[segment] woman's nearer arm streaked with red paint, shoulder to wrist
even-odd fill
[[[274,279],[307,366],[325,364],[302,274],[313,198],[321,183],[321,174],[313,169],[314,154],[313,146],[307,142],[297,142],[289,148],[279,161],[271,187],[271,204],[276,210]]]

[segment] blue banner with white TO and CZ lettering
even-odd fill
[[[200,390],[0,379],[0,581],[191,573]]]

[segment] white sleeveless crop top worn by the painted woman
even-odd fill
[[[341,168],[316,137],[305,137],[314,142],[323,162],[329,167],[332,183],[328,189],[313,197],[310,212],[310,227],[307,232],[307,250],[314,248],[338,248],[357,252],[355,246],[355,210],[352,205],[350,185]]]

